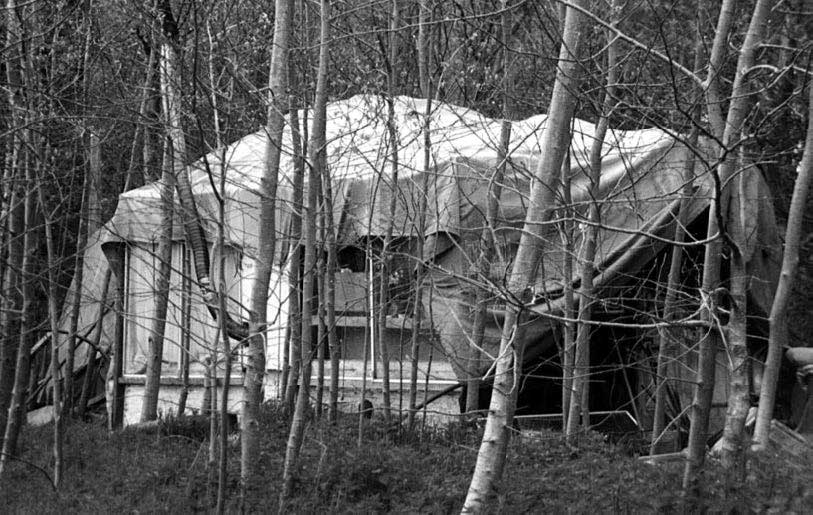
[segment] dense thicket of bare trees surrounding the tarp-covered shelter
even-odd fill
[[[477,284],[481,288],[477,293],[478,306],[485,306],[483,299],[490,292],[502,295],[511,308],[503,328],[503,352],[496,366],[486,437],[467,510],[484,509],[494,481],[501,473],[501,459],[516,401],[516,384],[511,371],[517,361],[522,361],[522,349],[511,347],[515,333],[510,324],[522,320],[523,302],[530,301],[527,289],[539,261],[534,241],[541,237],[537,232],[538,223],[554,219],[555,209],[564,205],[557,193],[573,117],[597,122],[605,129],[659,127],[683,135],[679,137],[689,145],[694,145],[698,137],[709,138],[714,141],[719,156],[712,166],[713,173],[722,186],[727,186],[717,192],[715,202],[721,205],[727,205],[729,196],[735,195],[736,192],[729,190],[744,191],[745,186],[738,185],[746,179],[737,175],[742,160],[756,163],[772,188],[780,224],[791,220],[789,249],[799,256],[798,266],[791,262],[786,264],[791,275],[783,279],[776,313],[765,314],[770,315],[773,324],[770,340],[774,352],[769,364],[777,363],[782,345],[809,345],[806,338],[813,331],[810,316],[813,313],[813,238],[810,237],[813,199],[805,196],[805,181],[809,182],[805,177],[809,177],[811,162],[807,90],[811,88],[813,77],[810,40],[813,12],[802,0],[323,0],[322,5],[305,0],[7,0],[0,26],[5,37],[0,55],[3,66],[0,83],[4,93],[0,97],[0,166],[3,167],[0,182],[0,435],[3,435],[0,481],[7,457],[10,459],[16,452],[25,408],[54,403],[55,418],[65,421],[74,416],[73,407],[80,400],[82,385],[73,380],[73,349],[78,342],[87,340],[88,335],[78,334],[73,323],[62,352],[56,352],[46,336],[55,330],[58,314],[75,317],[73,306],[79,299],[68,294],[68,286],[72,280],[82,280],[81,259],[89,232],[109,218],[121,192],[162,178],[168,185],[166,195],[171,195],[173,184],[178,185],[184,206],[181,216],[194,253],[189,280],[199,285],[212,316],[223,321],[224,334],[236,340],[250,340],[245,376],[248,402],[242,411],[241,480],[247,484],[256,466],[257,450],[252,435],[256,436],[265,367],[260,333],[269,315],[263,307],[264,296],[268,291],[271,259],[279,252],[273,239],[280,159],[280,145],[275,142],[281,141],[283,117],[292,106],[316,107],[315,116],[319,116],[324,113],[325,102],[357,93],[376,93],[390,100],[395,95],[423,97],[502,117],[506,122],[551,113],[551,125],[545,135],[549,146],[536,170],[538,191],[533,190],[529,199],[532,206],[529,225],[514,269],[506,275],[504,285]],[[606,57],[608,49],[610,57]],[[431,115],[428,111],[419,114]],[[324,123],[324,119],[321,122]],[[299,122],[296,123],[298,131]],[[332,316],[332,293],[327,285],[333,284],[336,249],[328,249],[330,252],[320,257],[313,244],[319,240],[318,231],[332,230],[325,225],[330,222],[325,220],[324,213],[318,212],[320,206],[331,206],[332,193],[329,181],[323,180],[329,172],[324,168],[324,127],[318,123],[312,126],[314,133],[302,134],[302,139],[294,145],[295,151],[301,154],[297,156],[296,172],[299,187],[306,175],[311,185],[305,191],[305,209],[300,213],[303,218],[295,225],[300,224],[302,235],[309,243],[301,257],[304,283],[326,285],[328,294],[322,297],[322,304],[327,304],[324,321]],[[202,230],[195,225],[199,222],[195,220],[194,202],[184,203],[187,192],[184,188],[188,188],[185,165],[261,127],[266,127],[270,136],[263,179],[266,209],[262,218],[263,226],[267,225],[269,230],[261,240],[264,242],[258,263],[261,280],[253,291],[252,306],[247,307],[249,320],[242,322],[228,316],[222,292],[219,292],[222,285],[215,284],[216,278],[209,277],[209,250],[200,240]],[[504,130],[502,144],[507,146],[510,124],[506,123]],[[396,133],[392,126],[393,146],[397,145]],[[428,149],[431,147],[428,131],[426,138]],[[389,150],[397,155],[393,148]],[[593,165],[596,167],[600,166],[600,151],[600,148],[595,151]],[[427,167],[430,166],[428,152]],[[506,149],[501,152],[504,155]],[[394,161],[391,168],[380,171],[382,177],[390,177],[385,180],[397,177],[397,159]],[[800,178],[798,192],[791,203],[797,177]],[[317,188],[320,181],[322,186]],[[597,184],[594,183],[594,187]],[[498,197],[499,190],[496,191]],[[299,195],[302,194],[299,191]],[[331,207],[328,209],[332,211]],[[599,220],[598,210],[598,206],[591,210],[588,221]],[[741,404],[739,409],[730,410],[730,427],[727,426],[724,446],[727,454],[724,455],[738,470],[742,470],[743,459],[743,408],[747,412],[748,404],[747,391],[742,390],[747,386],[743,383],[747,376],[748,350],[744,327],[746,313],[751,316],[744,307],[744,289],[747,288],[741,282],[744,275],[737,275],[738,270],[742,271],[738,268],[741,264],[738,242],[745,237],[742,231],[747,225],[745,217],[731,220],[710,217],[708,235],[714,237],[707,242],[704,270],[695,271],[698,275],[706,274],[702,285],[698,284],[703,290],[696,295],[698,305],[704,295],[703,305],[708,308],[707,301],[712,298],[709,296],[717,295],[721,288],[734,299],[734,304],[728,305],[733,306],[732,315],[724,336],[734,338],[731,349],[736,351],[733,354],[737,359],[732,360],[732,371],[736,372],[732,377],[738,377],[740,382],[735,381],[732,386],[735,390],[739,388]],[[573,227],[568,229],[562,224],[560,230],[564,234]],[[393,244],[391,231],[390,228],[382,253],[380,266],[384,273],[391,264],[387,257],[389,246]],[[168,234],[169,229],[164,233],[165,238]],[[680,231],[675,234],[682,242],[685,235]],[[484,229],[482,259],[491,257],[488,238],[488,231]],[[300,251],[298,246],[294,247],[292,252]],[[571,251],[574,259],[592,261],[590,249]],[[164,261],[164,281],[170,273],[166,259],[170,252],[167,239],[157,251],[158,258]],[[224,252],[222,248],[220,252]],[[723,276],[720,275],[722,258],[727,263]],[[677,259],[676,270],[686,266],[681,265],[679,250],[673,259]],[[415,273],[421,277],[422,265],[416,262],[414,266]],[[296,268],[296,273],[300,273],[299,266]],[[592,268],[584,270],[590,273]],[[793,274],[798,275],[798,280],[791,279]],[[296,285],[297,281],[291,284]],[[379,311],[374,311],[383,328],[386,292],[383,283],[376,284],[380,286],[376,298],[384,301],[385,307],[379,306]],[[166,285],[156,284],[155,288],[166,289]],[[301,307],[308,313],[315,309],[311,308],[313,304],[320,304],[319,299],[312,298],[312,289],[302,295]],[[592,295],[589,280],[581,281],[581,290],[577,293],[576,304],[569,303],[565,313],[572,314],[575,324],[568,325],[575,331],[570,336],[580,334],[576,340],[584,343],[589,327],[586,324],[589,302],[585,303],[585,299]],[[110,297],[113,296],[111,292]],[[577,306],[579,302],[581,309]],[[668,298],[666,304],[669,309],[673,307]],[[291,313],[297,316],[296,309]],[[671,313],[656,315],[668,320]],[[715,313],[708,312],[705,316],[709,325],[713,325]],[[420,313],[416,311],[414,318],[420,318]],[[778,322],[784,319],[796,323],[788,326]],[[152,380],[148,381],[150,402],[145,403],[144,420],[157,416],[155,403],[164,331],[161,322],[156,320],[152,328],[153,348],[159,354],[153,356],[147,367]],[[584,324],[580,326],[580,322]],[[309,326],[310,316],[301,327]],[[719,344],[715,336],[717,329],[709,327],[709,338],[704,339],[706,357],[714,345]],[[381,332],[383,334],[383,329]],[[295,423],[299,424],[291,433],[291,466],[296,463],[302,445],[301,429],[308,411],[307,391],[297,391],[297,384],[302,373],[310,377],[309,363],[316,357],[309,350],[313,347],[312,336],[309,330],[301,328],[292,329],[289,334],[295,344],[289,352],[301,353],[290,361],[286,357],[286,366],[289,361],[294,368],[283,378],[284,383],[287,381],[286,398],[290,409],[295,410]],[[754,336],[754,340],[761,337]],[[329,334],[328,326],[318,337],[326,341],[334,338],[330,352],[335,360],[331,367],[335,376],[338,374],[337,353],[332,350],[335,335]],[[661,339],[666,341],[667,337],[662,334]],[[298,345],[300,342],[302,346]],[[413,344],[413,350],[414,345],[417,344]],[[751,349],[751,352],[763,360],[764,347]],[[96,373],[103,374],[115,363],[112,348],[108,346],[105,347],[108,350],[101,351],[101,367]],[[29,355],[31,349],[36,352]],[[228,349],[223,350],[231,355],[226,352]],[[567,357],[570,347],[565,345],[563,352]],[[653,355],[656,354],[657,351]],[[66,361],[61,372],[62,382],[56,388],[49,387],[49,378],[58,375],[60,365],[53,361],[60,355]],[[89,355],[96,356],[96,350]],[[576,356],[578,360],[583,359],[581,354]],[[391,358],[383,355],[381,359],[388,362]],[[573,365],[573,361],[570,364]],[[577,361],[576,372],[583,365],[583,361]],[[302,367],[304,372],[297,367]],[[703,368],[702,362],[700,367]],[[323,364],[320,370],[324,371]],[[663,365],[658,370],[667,368]],[[694,420],[701,422],[704,409],[709,407],[709,388],[713,385],[713,371],[708,367],[704,370],[705,375],[698,376],[699,387],[693,406]],[[569,373],[573,377],[572,369]],[[330,383],[331,420],[335,420],[338,389],[338,382],[333,379]],[[470,410],[476,409],[476,392],[479,391],[474,388],[477,384],[474,379],[469,384]],[[570,395],[568,386],[565,397],[573,408],[565,418],[570,419],[569,431],[574,432],[579,405],[587,397],[579,390],[579,381],[575,384],[569,381],[566,376],[565,383],[572,386],[573,392]],[[771,379],[771,384],[774,381]],[[306,384],[307,379],[301,382]],[[87,388],[80,406],[87,404]],[[392,404],[388,388],[385,386],[389,420]],[[300,399],[294,408],[297,394]],[[773,398],[770,391],[766,395]],[[758,431],[763,440],[765,417],[769,421],[773,413],[771,399],[760,401],[764,410]],[[661,398],[659,402],[665,401]],[[61,406],[66,408],[64,412]],[[411,425],[416,407],[413,396],[409,407]],[[666,423],[663,410],[658,409],[656,432]],[[61,452],[57,452],[61,449],[59,433],[57,424],[57,470],[62,459]],[[687,485],[703,463],[705,424],[695,424],[690,440]],[[294,487],[294,474],[292,470],[285,476],[286,491]],[[55,477],[59,478],[59,474]],[[222,502],[219,507],[222,509]]]

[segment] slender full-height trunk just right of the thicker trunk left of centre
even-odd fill
[[[316,77],[316,95],[313,107],[313,132],[309,145],[311,166],[308,173],[308,201],[305,223],[305,263],[302,278],[302,376],[296,398],[291,432],[285,448],[285,465],[282,471],[282,491],[280,511],[293,491],[293,483],[305,434],[307,411],[310,404],[311,359],[313,355],[313,287],[316,279],[316,209],[319,183],[327,166],[327,71],[329,59],[328,38],[330,37],[330,5],[322,0],[320,9],[321,35],[319,41],[319,70]]]

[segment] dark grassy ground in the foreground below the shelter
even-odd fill
[[[288,421],[269,408],[263,417],[260,473],[250,485],[250,512],[276,511]],[[169,425],[163,434],[74,423],[65,446],[65,481],[52,491],[50,428],[26,432],[22,458],[0,485],[2,512],[193,512],[208,510],[215,485],[207,473],[207,443],[199,428]],[[167,434],[173,433],[173,434]],[[356,419],[337,428],[311,425],[303,447],[296,496],[289,512],[459,511],[477,454],[478,434],[459,426],[398,434],[377,423],[357,446]],[[514,439],[494,511],[680,511],[679,464],[646,465],[586,435],[578,450],[553,433]],[[230,448],[229,494],[237,508],[239,445]],[[750,467],[749,483],[727,491],[712,466],[702,483],[701,507],[712,511],[808,512],[813,473],[773,457]]]

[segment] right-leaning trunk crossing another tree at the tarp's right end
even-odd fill
[[[739,136],[742,133],[743,121],[748,107],[748,90],[746,84],[746,71],[749,70],[755,59],[756,50],[762,40],[765,31],[771,2],[769,0],[758,0],[754,7],[748,32],[745,36],[740,55],[737,60],[737,70],[734,76],[734,84],[731,88],[731,102],[728,108],[725,128],[722,138],[723,148],[720,150],[720,165],[718,168],[719,185],[729,182],[735,172],[735,159],[730,157],[730,152],[734,145],[739,144]],[[722,21],[722,20],[721,20]],[[717,47],[715,39],[715,47]],[[725,44],[725,43],[723,43]],[[712,49],[712,56],[715,55]],[[714,82],[713,80],[711,82]],[[711,98],[711,97],[710,97]],[[712,123],[713,118],[710,117]],[[714,130],[715,128],[712,127]],[[716,131],[715,131],[716,132]],[[715,191],[715,198],[709,207],[709,224],[707,235],[713,237],[718,232],[725,230],[724,217],[727,211],[725,198],[721,195],[720,188]],[[706,245],[705,258],[703,263],[703,284],[701,294],[704,296],[704,318],[709,322],[709,333],[700,342],[698,356],[697,388],[692,402],[692,425],[689,431],[688,459],[683,474],[683,489],[688,493],[696,486],[697,477],[703,466],[706,457],[706,439],[708,433],[709,415],[711,412],[711,401],[714,393],[714,355],[717,349],[719,334],[716,328],[712,327],[716,314],[714,290],[720,281],[720,255],[723,245],[722,238],[714,238]]]

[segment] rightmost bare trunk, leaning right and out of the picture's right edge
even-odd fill
[[[810,100],[808,113],[813,113],[813,87],[808,86]],[[782,256],[782,271],[779,284],[774,294],[771,314],[768,319],[768,358],[762,376],[762,389],[759,392],[759,410],[754,427],[754,445],[756,451],[768,447],[768,437],[773,418],[776,385],[779,379],[779,365],[782,362],[782,348],[787,342],[787,308],[796,271],[799,268],[799,242],[802,236],[805,203],[810,191],[813,176],[813,116],[808,115],[807,135],[802,160],[797,168],[796,183],[793,186],[793,197],[788,210],[788,224],[785,232],[785,252]]]

